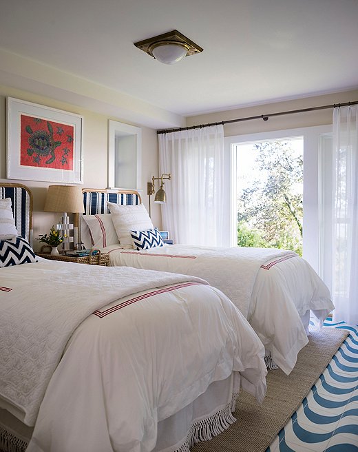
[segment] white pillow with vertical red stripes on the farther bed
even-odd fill
[[[105,248],[119,243],[111,214],[83,215],[82,220],[89,228],[92,242],[89,248]]]

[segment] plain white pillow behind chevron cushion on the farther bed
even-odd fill
[[[123,248],[133,248],[133,240],[130,231],[144,231],[154,229],[150,216],[143,204],[119,205],[107,201],[109,211],[112,214],[114,229]]]

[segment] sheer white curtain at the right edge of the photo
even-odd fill
[[[335,321],[358,324],[358,105],[333,112]]]

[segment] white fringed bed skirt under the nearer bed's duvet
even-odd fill
[[[158,440],[153,452],[190,452],[196,442],[206,441],[227,429],[235,418],[235,401],[240,373],[211,383],[207,391],[187,407],[158,423]],[[25,452],[33,429],[0,409],[0,451]]]

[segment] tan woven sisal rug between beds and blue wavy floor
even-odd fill
[[[240,393],[229,429],[210,441],[199,442],[192,452],[264,452],[298,409],[310,388],[327,367],[349,331],[324,327],[311,332],[289,376],[268,371],[267,393],[260,406],[248,393]]]

